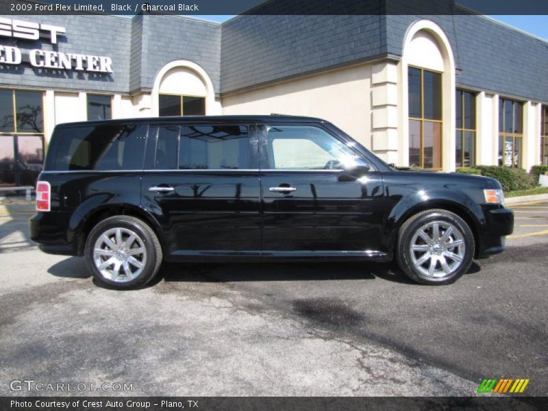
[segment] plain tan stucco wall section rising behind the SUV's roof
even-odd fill
[[[223,114],[290,114],[334,123],[371,147],[371,64],[224,96]]]

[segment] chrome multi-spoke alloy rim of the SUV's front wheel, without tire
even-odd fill
[[[458,270],[466,245],[462,232],[447,221],[432,221],[412,236],[410,256],[414,268],[429,278],[441,279]]]

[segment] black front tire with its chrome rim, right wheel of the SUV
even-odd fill
[[[436,223],[437,236],[434,234]],[[432,242],[427,242],[422,234],[426,234]],[[440,237],[442,234],[448,237]],[[438,238],[437,243],[434,238]],[[400,268],[414,282],[441,286],[456,282],[469,270],[475,253],[475,241],[469,225],[457,214],[440,209],[425,210],[401,225],[395,252]],[[427,260],[419,264],[423,258]],[[460,262],[459,258],[462,258]],[[434,269],[431,269],[432,264]]]

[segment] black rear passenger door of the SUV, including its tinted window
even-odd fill
[[[181,123],[151,126],[150,135],[141,204],[162,226],[166,258],[259,257],[255,127]]]

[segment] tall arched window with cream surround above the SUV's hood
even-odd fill
[[[400,66],[401,163],[454,170],[455,63],[443,30],[429,20],[413,23],[403,41]]]

